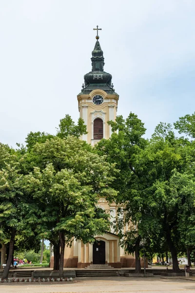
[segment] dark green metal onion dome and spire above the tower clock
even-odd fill
[[[82,93],[90,93],[94,89],[102,89],[107,93],[115,93],[112,84],[112,75],[104,71],[104,57],[98,41],[99,36],[96,36],[96,44],[92,51],[92,71],[84,75],[84,87]]]

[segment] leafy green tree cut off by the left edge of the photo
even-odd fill
[[[13,259],[17,234],[35,236],[36,205],[26,198],[22,186],[22,174],[17,153],[7,146],[0,145],[4,158],[0,166],[0,239],[9,239],[9,255],[2,278],[8,276]]]

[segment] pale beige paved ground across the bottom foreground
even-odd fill
[[[76,278],[66,283],[0,284],[0,293],[195,293],[194,281],[185,279],[101,277]]]

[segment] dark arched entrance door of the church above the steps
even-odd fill
[[[106,249],[105,241],[96,241],[93,244],[93,264],[105,265],[106,263]]]

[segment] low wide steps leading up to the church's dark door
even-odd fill
[[[76,270],[77,277],[117,277],[118,270],[109,265],[90,265],[86,270]]]

